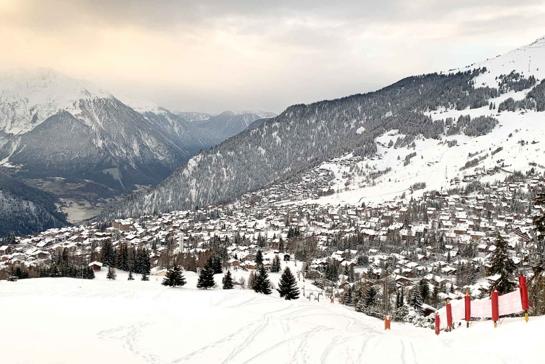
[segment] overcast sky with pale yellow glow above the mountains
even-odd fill
[[[182,111],[373,91],[545,35],[545,0],[0,0],[0,67]]]

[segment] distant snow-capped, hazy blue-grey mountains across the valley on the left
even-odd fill
[[[17,71],[0,79],[0,164],[25,178],[83,178],[128,192],[263,115],[133,108],[53,70]]]

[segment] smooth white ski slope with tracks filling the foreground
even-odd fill
[[[191,272],[183,288],[163,287],[161,277],[128,282],[118,271],[107,281],[104,269],[96,275],[1,282],[0,305],[9,308],[2,327],[24,338],[0,341],[3,361],[532,364],[545,355],[542,317],[503,319],[497,329],[490,321],[472,323],[435,336],[408,324],[384,331],[381,320],[328,300],[197,290]]]

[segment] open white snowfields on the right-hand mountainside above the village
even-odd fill
[[[529,68],[530,64],[530,68]],[[541,67],[540,67],[541,66]],[[479,67],[486,67],[487,72],[476,77],[475,86],[490,86],[498,87],[496,76],[501,74],[509,74],[512,70],[516,70],[524,77],[534,75],[538,82],[545,78],[545,37],[537,39],[529,45],[514,49],[505,55],[488,59],[480,63],[470,65],[466,68],[451,70],[472,70]],[[507,92],[501,94],[498,98],[491,101],[496,104],[496,107],[505,99],[512,97],[515,100],[523,99],[530,89],[522,92]],[[476,157],[469,157],[470,153],[482,151],[480,156],[488,157],[480,162],[477,167],[482,170],[501,166],[497,163],[502,160],[505,165],[503,171],[493,176],[482,176],[481,182],[493,182],[495,180],[504,180],[504,178],[515,170],[527,171],[531,168],[529,163],[535,162],[538,165],[535,167],[538,172],[543,172],[543,146],[545,140],[545,123],[543,123],[545,114],[543,112],[517,110],[516,112],[503,111],[498,113],[497,110],[489,110],[488,106],[478,109],[465,110],[446,110],[441,108],[435,111],[426,113],[434,121],[445,120],[452,117],[457,119],[461,115],[470,115],[471,118],[477,116],[492,116],[495,117],[499,124],[492,130],[491,133],[483,136],[470,137],[463,134],[442,136],[441,140],[421,139],[415,140],[416,147],[413,148],[388,148],[387,144],[390,140],[395,142],[398,137],[404,135],[397,134],[397,130],[390,130],[376,139],[384,146],[378,145],[377,154],[380,157],[362,160],[358,163],[360,169],[366,172],[385,170],[391,168],[391,171],[376,178],[374,184],[370,186],[364,183],[364,179],[360,176],[355,176],[352,181],[348,181],[343,175],[348,174],[348,166],[344,166],[338,158],[326,162],[321,165],[322,168],[328,168],[335,173],[336,179],[331,186],[340,193],[329,196],[324,196],[317,200],[308,200],[307,202],[318,204],[361,204],[380,203],[387,200],[392,200],[396,196],[400,196],[403,192],[409,193],[411,185],[417,182],[426,182],[426,188],[417,190],[413,196],[418,197],[426,192],[426,190],[442,190],[451,187],[450,180],[455,177],[463,179],[463,176],[475,173],[475,167],[460,170],[466,162]],[[360,129],[358,129],[360,130]],[[356,131],[357,132],[357,131]],[[512,134],[510,137],[509,135]],[[445,144],[446,141],[457,140],[457,146],[450,147]],[[524,140],[529,144],[521,147],[520,140]],[[532,141],[539,142],[531,144]],[[492,151],[498,147],[503,150],[492,156]],[[411,158],[411,162],[407,166],[403,166],[403,159],[407,154],[416,152],[416,157]],[[399,156],[399,160],[397,157]],[[341,163],[340,163],[341,162]],[[366,168],[366,165],[368,168]],[[445,178],[446,174],[446,178]],[[348,186],[346,183],[350,182]],[[458,186],[465,186],[464,182]]]

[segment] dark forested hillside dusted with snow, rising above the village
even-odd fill
[[[502,91],[475,87],[474,78],[486,72],[479,68],[412,76],[376,92],[290,106],[257,128],[198,153],[152,192],[129,196],[101,218],[223,204],[342,153],[373,155],[374,139],[385,130],[398,129],[407,144],[419,134],[439,138],[444,122],[433,122],[424,112],[488,105]],[[464,130],[486,134],[494,125],[477,121],[464,124]]]

